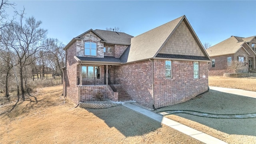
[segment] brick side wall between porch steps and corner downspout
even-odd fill
[[[122,84],[133,100],[152,108],[152,63],[136,62],[114,66],[114,83]]]

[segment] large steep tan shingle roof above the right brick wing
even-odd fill
[[[148,32],[132,38],[127,62],[155,58],[162,46],[164,46],[164,44],[167,42],[170,36],[172,36],[173,32],[183,20],[186,23],[188,29],[190,30],[192,36],[196,40],[201,51],[208,58],[208,60],[210,60],[200,40],[198,39],[194,30],[186,19],[186,16],[181,16],[179,18],[176,18],[175,20],[172,20],[166,24],[158,26],[157,28],[154,28],[152,30],[149,30]]]

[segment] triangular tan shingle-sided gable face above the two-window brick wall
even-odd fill
[[[204,56],[184,21],[181,22],[159,53]]]

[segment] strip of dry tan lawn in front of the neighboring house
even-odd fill
[[[256,92],[256,77],[226,78],[222,76],[209,76],[209,86],[238,88]]]

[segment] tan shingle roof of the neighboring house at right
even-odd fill
[[[206,49],[206,52],[208,52],[210,57],[235,54],[246,42],[244,40],[252,40],[253,38],[254,36],[248,38],[231,36],[230,38]]]

